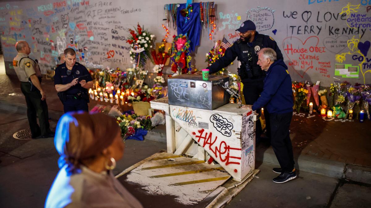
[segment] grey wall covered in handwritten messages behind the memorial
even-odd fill
[[[0,3],[0,36],[7,73],[13,73],[14,44],[26,40],[30,57],[42,72],[54,67],[66,47],[78,51],[78,61],[90,68],[130,67],[128,29],[140,23],[160,42],[165,35],[164,5],[172,0],[25,0]],[[185,3],[179,1],[178,3]],[[335,79],[371,83],[371,1],[369,0],[217,0],[216,30],[203,27],[193,65],[205,68],[205,54],[216,40],[231,44],[246,19],[257,31],[277,41],[296,81]],[[171,36],[176,29],[170,21]],[[237,63],[227,69],[237,71]],[[153,65],[149,64],[151,71]],[[334,78],[335,77],[335,78]]]

